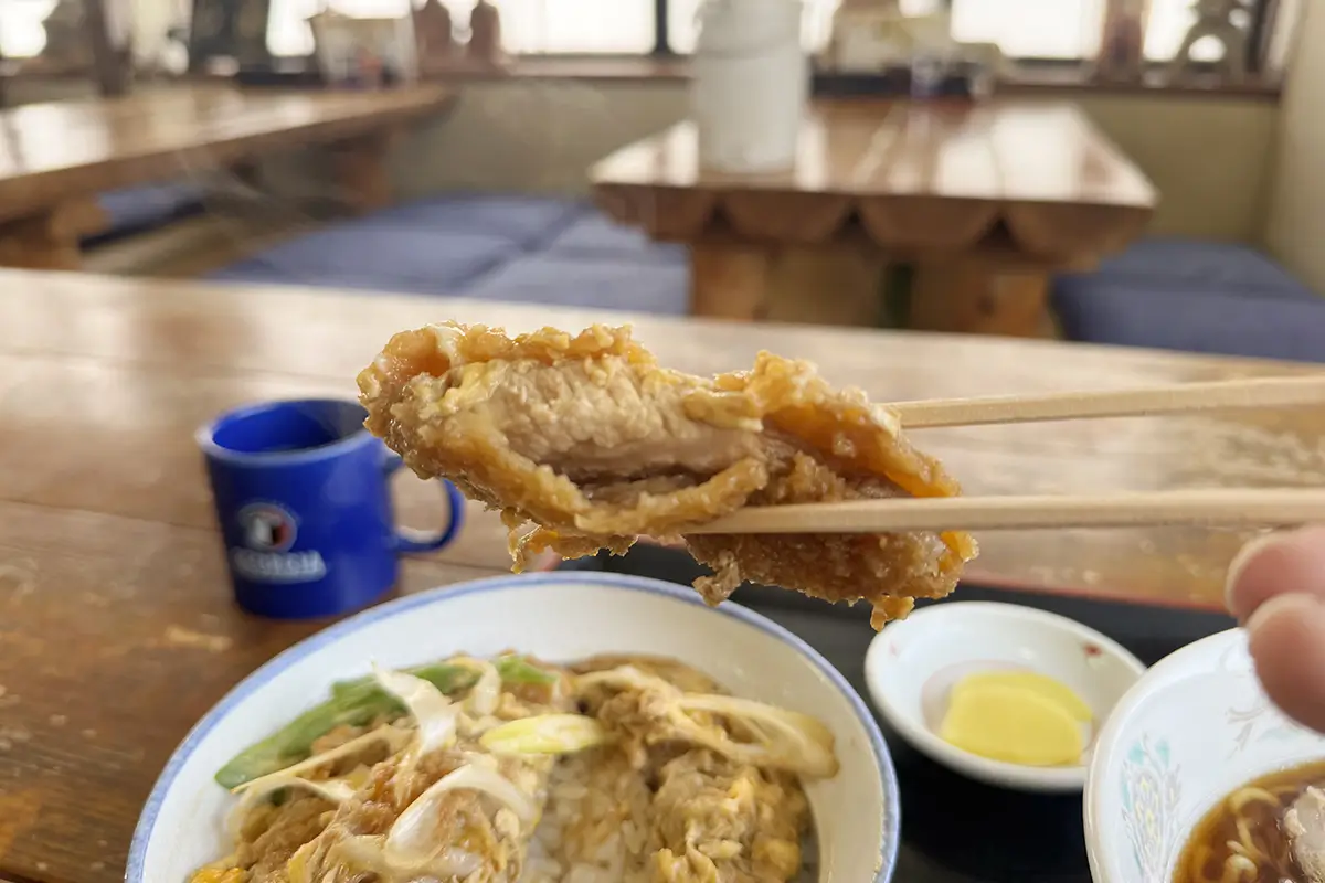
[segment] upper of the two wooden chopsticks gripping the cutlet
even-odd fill
[[[890,406],[902,428],[982,426],[1085,417],[1141,417],[1234,408],[1289,408],[1325,404],[1325,373],[1249,377],[1106,392],[990,396],[900,401]]]

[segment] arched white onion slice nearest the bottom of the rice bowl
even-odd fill
[[[435,781],[400,813],[387,831],[384,855],[388,864],[417,868],[441,854],[447,843],[437,842],[437,822],[453,790],[476,790],[496,798],[515,813],[522,826],[533,823],[538,815],[534,801],[509,778],[496,769],[465,764]]]

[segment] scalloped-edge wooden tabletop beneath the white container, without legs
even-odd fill
[[[708,171],[693,122],[590,172],[604,207],[660,238],[718,220],[743,238],[819,244],[855,213],[897,250],[975,246],[1002,222],[1026,254],[1071,258],[1130,240],[1154,209],[1146,176],[1064,102],[816,105],[792,168]]]

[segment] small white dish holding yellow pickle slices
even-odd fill
[[[1071,687],[1094,721],[1073,767],[1023,767],[971,755],[937,729],[953,684],[967,674],[1030,669]],[[955,601],[892,622],[869,645],[865,683],[888,724],[963,776],[1016,790],[1072,792],[1085,784],[1094,736],[1145,666],[1116,641],[1075,620],[1015,604]]]

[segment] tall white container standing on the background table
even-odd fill
[[[705,0],[690,82],[704,168],[790,169],[810,93],[800,0]]]

